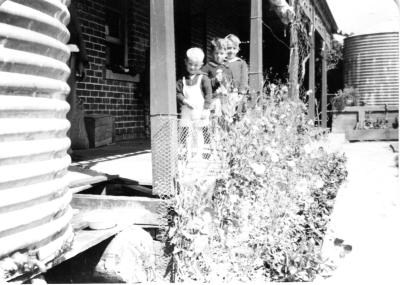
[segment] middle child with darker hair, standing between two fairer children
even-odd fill
[[[211,110],[214,115],[221,116],[221,97],[227,95],[230,91],[230,85],[233,79],[232,71],[225,64],[226,60],[226,40],[214,38],[211,41],[213,58],[209,61],[202,70],[208,75],[211,80],[213,91],[213,100]]]

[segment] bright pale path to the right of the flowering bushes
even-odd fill
[[[348,180],[332,213],[324,255],[338,269],[327,283],[400,284],[400,186],[390,142],[345,143]],[[334,238],[352,251],[344,257]]]

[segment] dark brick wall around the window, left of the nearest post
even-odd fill
[[[144,107],[138,82],[106,79],[105,0],[75,2],[87,53],[89,68],[77,83],[77,94],[86,113],[109,114],[115,118],[116,140],[144,135]],[[128,1],[128,63],[142,73],[149,46],[149,1]]]

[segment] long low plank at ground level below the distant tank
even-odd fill
[[[346,139],[349,141],[384,141],[398,140],[398,129],[369,129],[369,130],[346,130]]]

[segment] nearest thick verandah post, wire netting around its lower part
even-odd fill
[[[168,194],[176,173],[176,78],[173,1],[150,1],[150,115],[153,193]]]

